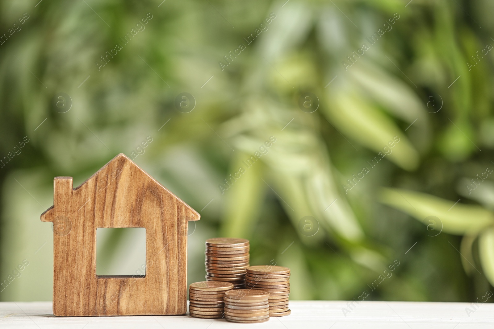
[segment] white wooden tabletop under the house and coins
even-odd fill
[[[468,303],[364,301],[290,301],[291,315],[271,318],[260,324],[237,324],[224,319],[198,319],[183,316],[78,317],[57,318],[51,302],[1,302],[0,328],[157,328],[157,329],[464,329],[494,328],[494,303],[479,303],[476,310]],[[343,314],[342,308],[350,310]],[[472,312],[467,314],[466,308]]]

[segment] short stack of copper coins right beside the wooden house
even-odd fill
[[[196,282],[189,286],[189,314],[196,318],[222,318],[223,296],[232,290],[228,282]]]

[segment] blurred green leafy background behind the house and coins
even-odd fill
[[[201,214],[189,283],[231,236],[291,299],[492,289],[492,1],[38,1],[0,1],[0,300],[51,300],[53,177],[120,152]]]

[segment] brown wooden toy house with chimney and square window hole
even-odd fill
[[[200,215],[119,154],[79,187],[55,177],[55,316],[173,315],[187,311],[187,223]],[[144,276],[96,275],[96,228],[144,227]]]

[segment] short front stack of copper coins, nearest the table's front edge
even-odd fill
[[[269,292],[230,290],[225,292],[225,319],[231,322],[256,323],[269,320]]]

